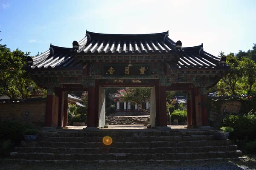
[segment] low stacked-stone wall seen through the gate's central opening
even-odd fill
[[[150,116],[143,117],[116,117],[106,116],[106,125],[144,125],[149,122]]]

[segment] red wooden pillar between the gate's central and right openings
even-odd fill
[[[166,116],[166,86],[159,87],[159,106],[160,106],[160,126],[167,127],[167,116]]]

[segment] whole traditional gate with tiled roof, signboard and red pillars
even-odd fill
[[[50,45],[28,57],[24,69],[47,89],[46,127],[67,126],[67,93],[88,91],[87,127],[105,125],[103,87],[151,87],[150,122],[166,127],[166,91],[187,91],[188,127],[208,126],[206,90],[228,70],[226,58],[215,57],[203,44],[182,48],[157,34],[98,34],[86,31],[73,48]]]

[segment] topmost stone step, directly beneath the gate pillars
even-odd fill
[[[73,132],[48,132],[41,131],[40,136],[47,137],[136,137],[136,136],[192,136],[192,135],[214,135],[218,130],[189,130],[189,131],[159,131],[159,130],[145,130],[145,131],[73,131]]]

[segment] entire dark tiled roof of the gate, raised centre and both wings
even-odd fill
[[[83,62],[76,62],[74,55],[160,55],[175,54],[176,43],[168,37],[168,31],[157,34],[98,34],[87,31],[86,36],[78,42],[79,50],[50,45],[50,49],[43,54],[33,57],[32,64],[24,67],[26,70],[58,69],[79,70]],[[86,56],[85,56],[86,57]],[[203,44],[195,47],[183,48],[183,54],[171,69],[227,69],[227,65],[220,63],[220,57],[215,57],[203,49]]]

